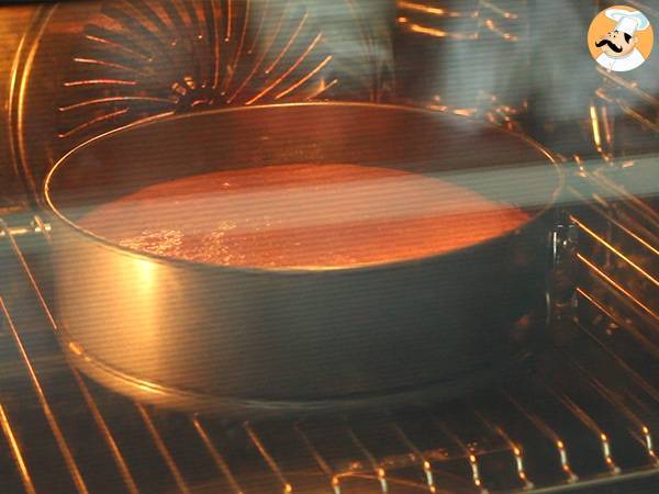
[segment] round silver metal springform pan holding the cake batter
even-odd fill
[[[165,180],[299,162],[440,177],[529,220],[446,254],[330,270],[167,258],[77,225]],[[248,416],[461,394],[541,329],[560,188],[538,145],[449,113],[298,103],[130,125],[78,146],[45,181],[60,339],[96,380],[183,409]]]

